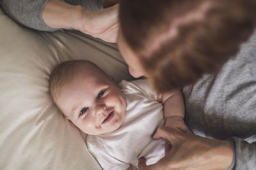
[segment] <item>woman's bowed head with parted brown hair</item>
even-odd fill
[[[255,27],[255,4],[124,0],[118,46],[133,74],[145,74],[161,92],[179,89],[218,71],[237,53]]]

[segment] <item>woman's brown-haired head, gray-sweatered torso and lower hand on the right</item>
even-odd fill
[[[141,169],[256,167],[255,9],[253,0],[121,1],[118,46],[130,73],[159,92],[184,87],[186,122],[211,138],[160,128],[154,138],[172,150],[154,166],[140,159]]]

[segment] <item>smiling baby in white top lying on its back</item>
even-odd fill
[[[164,123],[188,131],[179,90],[157,94],[147,80],[123,80],[116,85],[111,76],[86,60],[56,66],[49,87],[63,115],[88,134],[88,149],[103,169],[136,169],[140,157],[147,164],[164,157],[165,141],[151,137]]]

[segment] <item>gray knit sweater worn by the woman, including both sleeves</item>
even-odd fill
[[[49,0],[2,0],[3,10],[22,25],[56,31],[42,20]],[[102,0],[66,0],[89,10],[102,8]],[[185,87],[185,120],[195,134],[227,139],[234,148],[230,169],[256,168],[256,32],[241,46],[220,73],[207,74]]]

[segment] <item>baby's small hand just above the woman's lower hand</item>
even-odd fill
[[[185,125],[182,117],[168,117],[165,119],[164,126],[170,127],[177,131],[188,132],[188,127]]]

